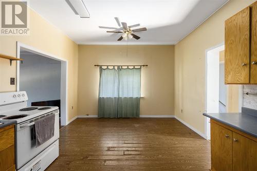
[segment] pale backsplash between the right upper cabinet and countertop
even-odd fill
[[[257,94],[257,85],[243,85],[243,106],[257,109],[257,96],[247,95],[246,92]]]

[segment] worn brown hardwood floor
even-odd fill
[[[60,130],[51,170],[209,170],[210,143],[174,118],[81,118]]]

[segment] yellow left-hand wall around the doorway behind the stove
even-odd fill
[[[46,22],[33,10],[30,14],[30,35],[1,36],[0,53],[16,56],[16,41],[68,60],[68,120],[77,116],[78,93],[78,45],[59,29]],[[10,77],[16,77],[16,64],[10,66],[6,59],[0,59],[0,92],[15,91]],[[71,109],[74,106],[74,109]]]

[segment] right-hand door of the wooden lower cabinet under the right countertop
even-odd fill
[[[257,142],[233,132],[233,171],[257,170]]]

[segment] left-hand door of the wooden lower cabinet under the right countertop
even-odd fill
[[[211,169],[232,170],[232,131],[211,123]]]

